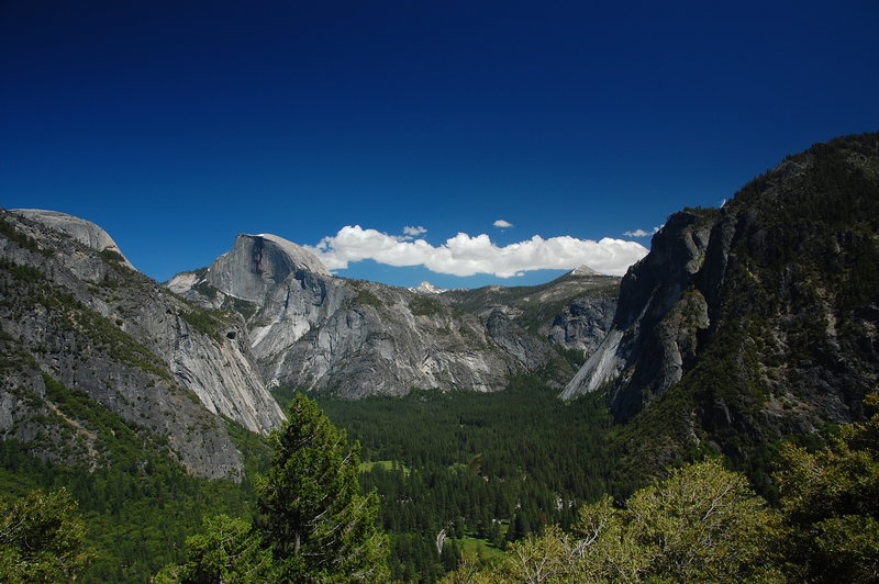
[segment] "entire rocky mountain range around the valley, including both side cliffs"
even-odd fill
[[[537,287],[409,290],[242,234],[160,285],[100,227],[19,210],[0,211],[0,433],[56,462],[108,463],[59,392],[162,437],[193,474],[236,478],[225,419],[277,426],[269,390],[494,392],[524,372],[566,398],[605,392],[632,460],[742,459],[860,418],[879,383],[879,135],[674,214],[622,283],[583,267]]]

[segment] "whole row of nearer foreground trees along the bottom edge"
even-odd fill
[[[475,529],[475,517],[483,513],[476,505],[467,507],[471,516],[458,517],[435,536],[392,534],[397,550],[389,555],[388,538],[378,527],[377,493],[361,494],[357,484],[359,446],[349,446],[345,431],[335,428],[313,401],[294,395],[289,422],[269,438],[270,465],[255,486],[256,513],[249,519],[205,515],[201,534],[186,538],[180,560],[168,563],[154,580],[354,583],[425,582],[442,576],[447,584],[876,582],[879,394],[870,395],[865,406],[871,418],[839,428],[826,447],[814,451],[793,445],[782,448],[774,474],[779,492],[775,507],[721,460],[705,460],[670,470],[625,503],[605,494],[572,505],[566,526],[552,521],[512,541],[513,520],[505,542],[496,542],[507,548],[505,553],[480,557],[467,550],[472,538],[461,536]],[[10,452],[7,463],[13,462]],[[414,468],[375,462],[363,468],[370,469],[367,474],[397,474],[413,484],[420,481]],[[458,465],[455,472],[475,473],[482,482],[491,482],[476,465]],[[12,484],[16,476],[5,479]],[[527,482],[527,478],[519,481]],[[386,492],[386,506],[389,498],[401,495]],[[402,496],[404,506],[418,508],[422,503]],[[420,496],[431,498],[430,492]],[[94,572],[86,569],[100,562],[102,552],[86,537],[93,518],[88,512],[80,515],[85,501],[80,499],[77,512],[65,488],[2,498],[0,581],[56,582],[84,575],[88,580],[89,574],[96,580]],[[565,507],[564,501],[556,499],[559,513]],[[163,515],[160,508],[152,513]],[[388,514],[383,515],[387,519]],[[496,517],[490,523],[499,525]],[[138,526],[132,529],[142,535]],[[125,543],[135,546],[137,539],[130,536]],[[104,577],[143,581],[149,576],[107,573]]]

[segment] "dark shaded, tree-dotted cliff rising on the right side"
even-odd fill
[[[858,419],[879,380],[878,290],[879,136],[816,145],[721,210],[672,215],[563,395],[604,389],[620,420],[663,408],[732,454]]]

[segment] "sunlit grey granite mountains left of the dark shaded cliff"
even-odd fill
[[[167,443],[192,474],[237,479],[224,419],[276,427],[267,388],[352,398],[498,391],[536,370],[560,388],[610,326],[617,287],[569,274],[534,288],[552,296],[548,313],[536,295],[528,304],[532,289],[427,297],[334,278],[272,235],[241,235],[209,268],[160,285],[97,225],[0,210],[0,433],[49,461],[94,468],[110,463],[108,427],[92,419],[107,411]],[[70,415],[70,400],[90,413]]]

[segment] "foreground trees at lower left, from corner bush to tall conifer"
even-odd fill
[[[202,532],[186,538],[185,546],[181,541],[179,558],[158,573],[86,571],[107,559],[86,537],[94,517],[80,516],[65,487],[35,490],[13,501],[0,499],[0,582],[80,576],[162,584],[387,582],[387,537],[377,528],[376,495],[359,494],[357,446],[349,447],[345,433],[308,397],[297,395],[287,415],[288,422],[269,437],[270,467],[256,485],[258,513],[252,519],[205,514]],[[170,498],[164,495],[156,501],[158,508],[132,507],[160,521],[157,518],[166,517],[162,503]],[[88,505],[80,498],[79,506],[82,510]],[[168,526],[168,537],[182,537],[182,524]],[[146,526],[134,524],[130,529],[116,531],[120,543],[143,547],[149,536]]]

